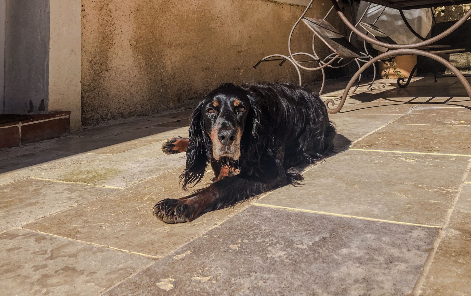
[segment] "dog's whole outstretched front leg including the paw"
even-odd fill
[[[206,212],[234,206],[272,187],[273,184],[267,186],[240,175],[227,177],[187,197],[159,201],[154,206],[154,216],[166,223],[190,222]]]

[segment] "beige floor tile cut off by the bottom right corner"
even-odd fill
[[[471,295],[471,184],[465,185],[440,242],[425,282],[423,296]]]

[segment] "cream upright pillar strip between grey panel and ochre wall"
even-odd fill
[[[70,111],[81,128],[81,0],[50,0],[49,112]]]

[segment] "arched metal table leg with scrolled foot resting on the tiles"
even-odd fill
[[[369,66],[371,66],[372,64],[376,63],[377,61],[379,60],[382,60],[386,57],[389,57],[389,56],[394,56],[394,55],[419,55],[419,56],[426,56],[426,57],[430,57],[431,59],[445,65],[448,69],[451,70],[451,72],[453,72],[456,77],[461,81],[461,83],[463,84],[463,87],[466,89],[466,92],[468,93],[468,96],[470,97],[471,99],[471,86],[468,82],[468,80],[466,80],[466,78],[464,78],[463,74],[458,70],[456,69],[456,67],[451,64],[450,62],[448,62],[446,59],[444,59],[443,57],[441,56],[437,56],[435,54],[432,54],[430,52],[427,52],[427,51],[423,51],[423,50],[420,50],[420,49],[414,49],[414,48],[405,48],[405,49],[396,49],[396,50],[391,50],[391,51],[388,51],[388,52],[385,52],[379,56],[376,56],[374,57],[373,59],[371,59],[369,62],[365,63],[356,73],[355,75],[353,75],[353,77],[350,79],[349,81],[349,84],[347,84],[347,87],[345,88],[345,90],[343,91],[343,95],[341,97],[341,100],[338,104],[338,106],[336,108],[331,108],[329,107],[329,105],[331,105],[332,107],[335,105],[335,102],[333,101],[333,99],[327,99],[324,101],[324,104],[325,106],[327,107],[327,112],[329,113],[337,113],[339,112],[342,107],[343,107],[343,104],[345,104],[345,100],[347,99],[347,96],[349,94],[349,90],[350,88],[353,86],[353,84],[355,83],[355,80],[357,80],[358,76],[361,75],[361,73],[363,71],[366,70],[366,68],[368,68]]]

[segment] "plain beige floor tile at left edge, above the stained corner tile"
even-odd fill
[[[23,179],[0,186],[0,230],[94,200],[112,188]]]

